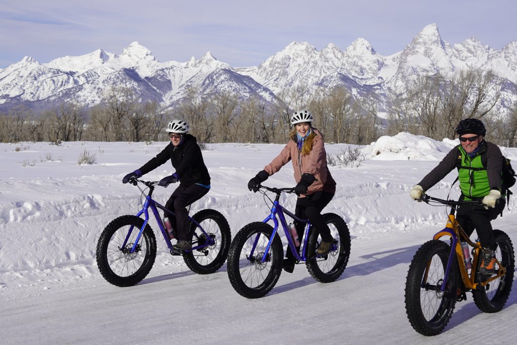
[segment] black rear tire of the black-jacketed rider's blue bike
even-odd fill
[[[230,243],[232,241],[232,232],[230,230],[230,225],[224,216],[216,211],[215,209],[202,209],[200,212],[197,212],[192,218],[201,223],[206,219],[212,219],[219,226],[219,231],[221,233],[219,252],[217,253],[214,260],[206,265],[201,264],[196,260],[195,254],[196,251],[188,251],[183,253],[183,259],[187,266],[191,269],[192,272],[197,274],[210,274],[216,272],[226,261],[228,257],[228,251],[230,249]],[[197,226],[191,222],[190,223],[190,238],[191,241],[194,242],[194,233],[197,229]],[[209,229],[205,229],[205,231],[210,232]],[[203,234],[200,230],[196,233],[198,236]],[[217,243],[216,243],[217,244]]]

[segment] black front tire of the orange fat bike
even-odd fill
[[[456,256],[454,256],[449,272],[449,288],[443,293],[442,297],[436,297],[440,304],[433,316],[426,318],[421,305],[421,298],[423,298],[421,292],[424,290],[421,287],[421,283],[425,268],[434,256],[438,256],[445,273],[449,254],[450,246],[445,242],[440,240],[428,241],[418,249],[407,271],[404,296],[407,318],[415,331],[425,336],[437,335],[442,332],[454,312],[459,287],[458,260]],[[432,276],[431,272],[429,276]],[[439,280],[436,283],[439,283]],[[433,293],[436,295],[436,292],[429,292],[429,295],[432,296]]]

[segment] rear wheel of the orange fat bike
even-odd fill
[[[515,269],[515,258],[510,237],[501,230],[494,230],[497,250],[495,257],[505,267],[506,274],[499,279],[493,280],[480,289],[472,290],[474,303],[483,312],[497,312],[506,304],[510,291],[512,290],[513,274]],[[478,260],[477,267],[481,265],[481,258]],[[497,265],[495,274],[497,274]],[[476,282],[479,284],[487,279],[486,276],[476,272]]]

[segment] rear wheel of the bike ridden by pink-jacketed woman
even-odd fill
[[[307,243],[308,260],[305,263],[311,276],[319,282],[328,283],[338,279],[346,268],[350,258],[350,233],[345,221],[333,213],[323,215],[330,228],[330,234],[334,238],[335,250],[331,250],[322,256],[316,256],[316,250],[320,246],[320,232],[312,228]]]

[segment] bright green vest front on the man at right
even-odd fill
[[[486,147],[482,147],[474,158],[470,158],[463,147],[461,145],[459,147],[457,161],[461,161],[461,166],[458,167],[458,178],[465,200],[482,198],[490,192],[488,172],[481,161],[481,154],[485,149]]]

